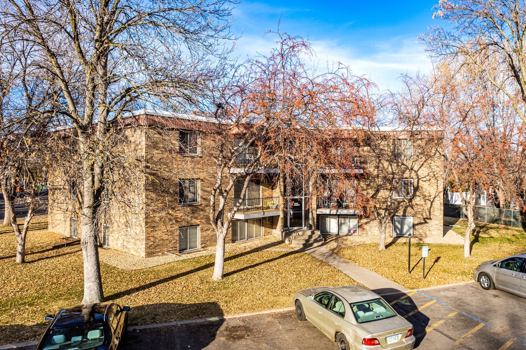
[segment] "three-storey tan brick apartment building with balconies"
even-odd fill
[[[102,246],[145,258],[165,252],[185,253],[216,244],[209,219],[209,198],[215,181],[214,160],[206,156],[210,140],[200,130],[207,118],[151,110],[136,111],[120,128],[115,154],[126,153],[127,171],[109,174],[99,218]],[[157,126],[163,126],[158,132]],[[378,149],[364,147],[357,159],[360,189],[374,196],[378,212],[389,215],[388,236],[439,240],[442,237],[443,166],[439,152],[429,152],[429,132],[409,139],[396,128],[376,132],[389,135]],[[441,139],[440,131],[432,131]],[[420,157],[419,148],[426,157]],[[177,151],[173,151],[177,150]],[[392,156],[392,157],[391,157]],[[239,163],[242,166],[242,155]],[[424,159],[425,158],[425,159]],[[421,161],[419,161],[421,159]],[[391,172],[391,162],[412,162],[402,172]],[[129,167],[133,163],[133,167]],[[136,171],[133,171],[133,169]],[[74,169],[49,172],[49,229],[79,238],[80,219]],[[399,177],[399,178],[398,178]],[[312,224],[322,234],[358,235],[377,241],[379,221],[353,208],[345,195],[310,197],[296,189],[282,197],[284,183],[278,169],[261,171],[251,180],[246,198],[231,223],[227,242],[242,242]],[[388,179],[388,180],[386,180]],[[235,187],[234,197],[239,188]],[[233,198],[232,198],[233,200]],[[389,210],[385,210],[390,208]],[[387,240],[389,241],[389,239]]]

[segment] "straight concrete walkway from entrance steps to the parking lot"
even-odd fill
[[[380,295],[400,292],[405,293],[409,291],[406,287],[388,280],[386,277],[380,276],[376,272],[369,271],[363,267],[357,266],[347,260],[340,258],[340,256],[332,253],[330,250],[325,248],[325,246],[315,246],[312,248],[299,250],[328,263],[329,265],[351,277],[351,279],[361,283],[362,285],[368,287],[370,290]]]

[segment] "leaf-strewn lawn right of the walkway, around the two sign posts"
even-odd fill
[[[453,230],[464,235],[465,220],[444,222],[460,225]],[[523,229],[495,224],[477,223],[471,236],[471,258],[463,258],[463,245],[411,243],[411,274],[408,274],[408,243],[400,239],[386,251],[378,250],[378,243],[336,248],[335,253],[359,266],[374,271],[408,289],[419,289],[442,284],[471,281],[473,270],[483,261],[526,252]],[[428,245],[426,269],[423,270],[422,246]],[[423,275],[426,278],[423,279]]]

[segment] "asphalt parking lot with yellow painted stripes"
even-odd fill
[[[419,349],[526,350],[526,300],[476,283],[384,298],[414,325]],[[335,349],[294,312],[130,332],[127,349]]]

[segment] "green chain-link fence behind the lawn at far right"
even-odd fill
[[[520,210],[478,207],[476,205],[473,212],[475,221],[526,229],[526,215]],[[444,203],[444,217],[467,219],[462,205],[449,203]]]

